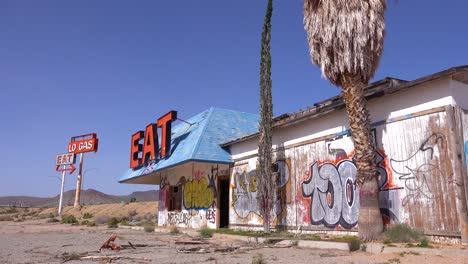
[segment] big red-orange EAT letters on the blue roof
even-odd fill
[[[156,124],[146,126],[145,132],[132,135],[130,145],[130,168],[138,167],[156,159],[167,157],[171,152],[171,124],[177,119],[177,111],[170,111],[158,119]],[[161,128],[161,147],[158,128]],[[143,140],[143,144],[140,141]]]

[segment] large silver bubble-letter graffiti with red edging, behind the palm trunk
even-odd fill
[[[309,178],[302,182],[303,197],[310,198],[309,217],[312,225],[351,229],[359,218],[359,190],[356,187],[357,168],[354,153],[346,155],[340,149],[335,161],[315,162]],[[393,183],[388,159],[382,150],[376,151],[379,166],[379,189],[401,189]]]

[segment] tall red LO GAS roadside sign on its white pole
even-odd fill
[[[78,168],[78,177],[76,180],[75,203],[73,205],[75,208],[80,205],[81,182],[83,180],[83,154],[86,152],[97,152],[97,149],[98,138],[96,133],[72,137],[70,139],[70,143],[68,143],[68,153],[80,154],[80,166]]]

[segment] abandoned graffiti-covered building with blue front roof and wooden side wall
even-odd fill
[[[413,81],[385,78],[368,85],[365,96],[384,223],[460,236],[457,208],[467,201],[456,198],[456,185],[468,190],[468,66]],[[204,111],[172,128],[170,153],[140,162],[119,181],[159,186],[161,226],[261,228],[258,120],[231,110]],[[353,143],[341,96],[274,118],[273,152],[273,227],[359,228]]]

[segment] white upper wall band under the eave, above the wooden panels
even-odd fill
[[[468,89],[463,83],[449,78],[424,83],[408,90],[386,95],[369,102],[373,122],[404,116],[436,107],[455,105],[452,96],[468,107]],[[460,104],[460,103],[459,103]],[[467,109],[467,107],[464,107]],[[337,111],[318,119],[273,131],[273,145],[284,146],[306,140],[332,135],[348,129],[345,110]],[[230,146],[234,160],[257,153],[258,139],[253,138]]]

